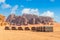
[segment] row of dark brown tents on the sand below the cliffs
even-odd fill
[[[26,30],[26,31],[31,30],[33,32],[53,32],[53,27],[43,26],[43,27],[31,27],[31,28],[29,28],[29,27],[24,27],[24,28],[22,28],[22,27],[18,27],[18,28],[11,27],[10,28],[10,27],[6,26],[5,30]]]

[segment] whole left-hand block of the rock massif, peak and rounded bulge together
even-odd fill
[[[6,22],[14,25],[25,25],[27,24],[26,18],[22,16],[16,16],[15,14],[11,14],[7,17]]]

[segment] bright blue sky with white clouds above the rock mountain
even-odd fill
[[[0,14],[8,16],[11,13],[50,16],[60,22],[60,0],[0,0]]]

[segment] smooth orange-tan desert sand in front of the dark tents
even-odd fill
[[[1,30],[1,27],[0,40],[60,40],[60,24],[54,26],[54,32]]]

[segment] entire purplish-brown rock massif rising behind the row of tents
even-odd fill
[[[6,22],[16,25],[26,25],[26,24],[49,24],[53,23],[51,17],[37,16],[31,14],[23,14],[22,16],[16,16],[11,14],[7,17]]]

